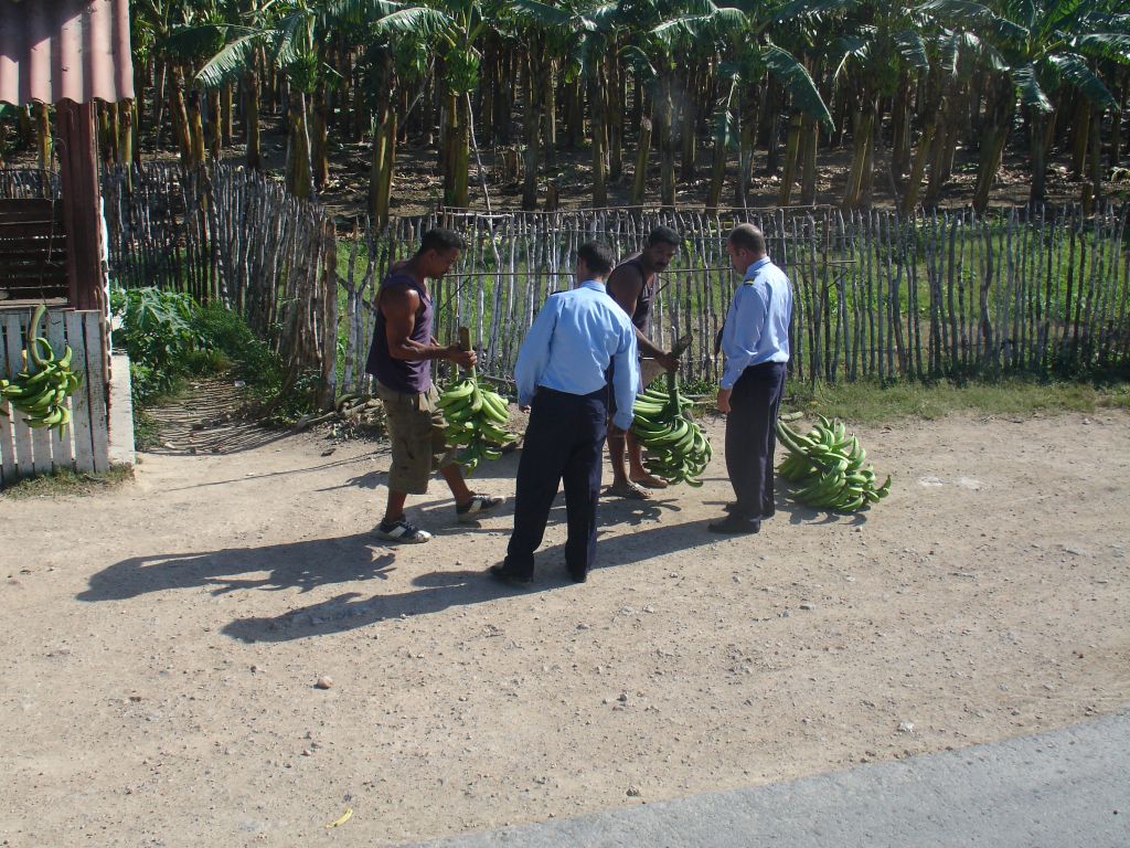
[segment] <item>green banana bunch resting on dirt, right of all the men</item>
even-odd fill
[[[864,465],[867,451],[859,439],[847,435],[842,421],[817,417],[816,426],[803,435],[777,421],[777,441],[789,449],[777,473],[797,484],[793,499],[809,507],[855,512],[886,497],[890,476],[876,486],[875,468]]]

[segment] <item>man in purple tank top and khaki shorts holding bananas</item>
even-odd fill
[[[405,501],[409,494],[427,493],[433,470],[438,469],[455,496],[455,516],[461,522],[475,521],[502,503],[501,497],[476,494],[467,487],[455,451],[445,444],[446,425],[432,383],[432,360],[447,360],[461,367],[475,364],[473,351],[461,351],[458,344],[440,345],[432,336],[427,280],[446,274],[462,246],[459,234],[429,230],[416,256],[389,269],[376,295],[376,326],[365,370],[376,378],[392,443],[389,503],[376,529],[377,536],[390,542],[432,538],[405,517]]]

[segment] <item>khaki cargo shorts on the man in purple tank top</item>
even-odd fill
[[[440,392],[432,386],[423,395],[409,395],[376,383],[384,404],[392,443],[389,488],[407,494],[426,494],[432,471],[455,460],[443,435],[446,422],[440,409]]]

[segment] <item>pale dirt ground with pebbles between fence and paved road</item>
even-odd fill
[[[558,502],[529,591],[481,573],[512,503],[461,527],[433,484],[436,538],[385,546],[384,447],[323,433],[184,429],[102,496],[0,500],[0,845],[386,846],[1130,703],[1130,415],[859,434],[868,514],[712,536],[719,456],[602,502],[583,586]]]

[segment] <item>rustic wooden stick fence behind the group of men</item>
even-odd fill
[[[0,196],[5,179],[0,172]],[[50,189],[36,179],[24,173],[20,190]],[[738,283],[725,236],[741,220],[762,227],[793,283],[794,379],[1127,374],[1130,363],[1128,206],[912,218],[827,207],[722,215],[444,209],[376,232],[365,219],[334,226],[278,182],[229,166],[110,173],[104,194],[119,284],[220,300],[270,339],[295,379],[316,375],[323,403],[367,387],[380,280],[433,226],[467,240],[457,267],[433,284],[435,335],[453,339],[458,327],[470,327],[480,370],[499,379],[513,373],[546,296],[572,285],[582,242],[599,239],[626,257],[663,224],[684,246],[661,275],[652,337],[670,346],[693,334],[683,373],[715,380],[714,337]]]

